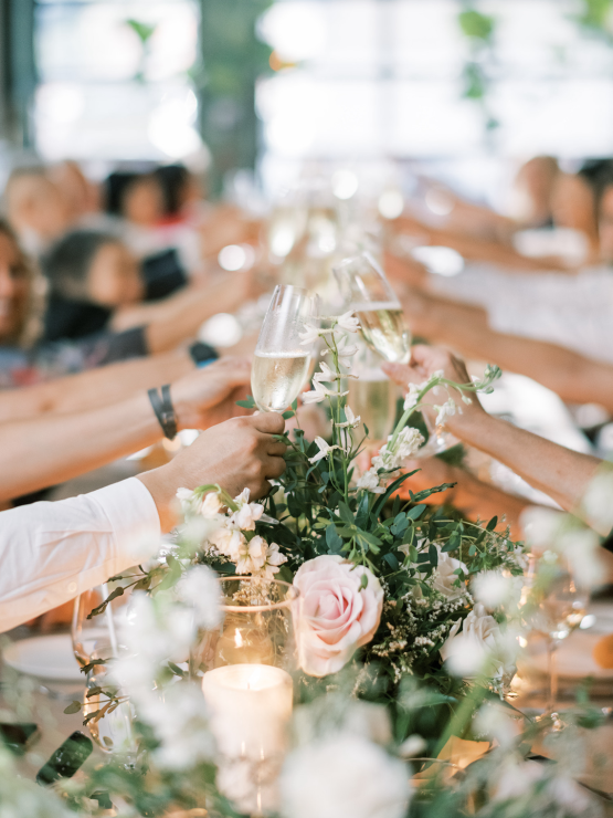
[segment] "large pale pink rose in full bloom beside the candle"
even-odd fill
[[[368,578],[360,588],[362,576]],[[379,627],[383,589],[363,566],[336,555],[309,559],[294,577],[300,667],[311,677],[339,671]]]

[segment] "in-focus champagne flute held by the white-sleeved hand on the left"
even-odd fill
[[[300,287],[275,287],[264,317],[251,374],[257,408],[283,412],[307,380],[314,344],[302,344],[305,323],[318,323],[319,300]]]

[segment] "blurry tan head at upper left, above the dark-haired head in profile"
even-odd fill
[[[62,186],[44,167],[13,170],[4,199],[8,221],[31,255],[47,250],[76,220]]]

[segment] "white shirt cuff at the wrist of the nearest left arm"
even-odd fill
[[[116,539],[117,556],[136,565],[159,549],[161,528],[154,497],[136,478],[91,492],[88,497],[106,514]]]

